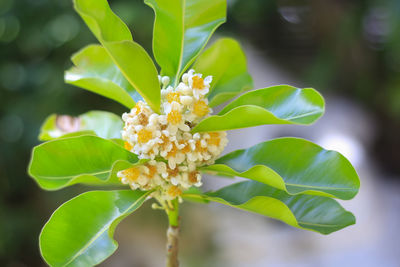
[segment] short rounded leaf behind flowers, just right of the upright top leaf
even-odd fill
[[[213,77],[208,94],[211,107],[253,88],[253,80],[247,72],[246,56],[240,44],[231,38],[216,41],[199,56],[193,69]]]

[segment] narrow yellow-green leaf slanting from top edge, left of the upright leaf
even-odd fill
[[[157,69],[143,47],[132,41],[128,27],[107,0],[74,0],[74,7],[133,88],[160,112]]]

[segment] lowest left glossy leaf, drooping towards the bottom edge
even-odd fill
[[[40,234],[40,251],[50,266],[94,266],[118,247],[118,223],[151,192],[116,190],[83,193],[61,205]]]

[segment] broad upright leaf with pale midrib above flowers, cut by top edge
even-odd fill
[[[155,13],[153,53],[162,74],[178,83],[226,20],[226,0],[145,0]]]

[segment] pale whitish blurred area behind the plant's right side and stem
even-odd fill
[[[255,88],[309,86],[293,81],[263,61],[264,56],[253,48],[245,46],[245,50]],[[400,184],[394,182],[400,179],[387,179],[368,154],[374,118],[348,100],[324,96],[326,113],[316,124],[232,131],[225,153],[281,136],[305,138],[341,152],[361,179],[359,194],[353,200],[341,201],[356,216],[356,225],[324,236],[219,204],[187,203],[182,215],[181,266],[400,266]],[[232,179],[203,179],[207,189],[232,183]],[[166,225],[154,220],[164,222],[166,218],[160,214],[148,216],[150,223],[136,216],[122,223],[117,230],[120,249],[102,266],[164,265]]]

